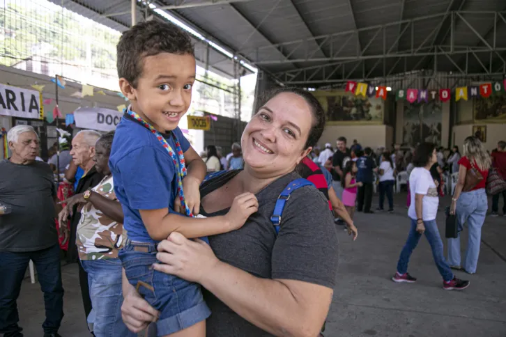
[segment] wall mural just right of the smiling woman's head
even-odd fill
[[[330,122],[383,123],[381,98],[355,96],[344,91],[315,91]]]

